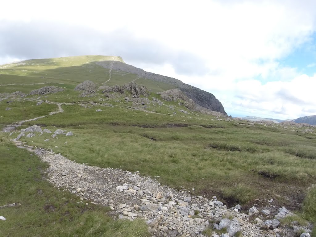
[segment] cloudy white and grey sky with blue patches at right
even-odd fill
[[[52,4],[53,3],[53,4]],[[228,115],[316,114],[316,1],[5,1],[0,64],[76,55],[208,91]]]

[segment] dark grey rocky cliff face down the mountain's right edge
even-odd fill
[[[210,109],[211,111],[222,112],[224,115],[227,115],[222,103],[219,100],[217,100],[213,94],[201,90],[199,88],[193,87],[191,85],[185,84],[178,79],[168,76],[161,76],[151,72],[146,72],[143,69],[136,68],[132,65],[118,61],[103,61],[97,62],[96,64],[104,68],[111,68],[112,70],[133,73],[140,77],[147,78],[150,80],[172,84],[176,88],[181,90],[183,93],[185,93],[185,95],[192,99],[196,104],[204,108]]]

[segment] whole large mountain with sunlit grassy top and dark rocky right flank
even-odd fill
[[[2,75],[1,75],[2,74]],[[126,64],[121,57],[87,55],[64,58],[32,59],[0,66],[0,79],[19,78],[25,83],[26,76],[38,78],[38,82],[58,83],[65,79],[70,82],[91,80],[103,85],[124,85],[129,82],[143,84],[153,92],[179,89],[197,105],[211,111],[225,112],[222,103],[204,90],[185,84],[175,78],[144,71]],[[33,80],[32,80],[33,81]]]

